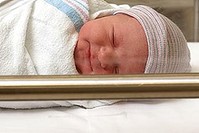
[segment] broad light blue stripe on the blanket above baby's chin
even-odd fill
[[[74,23],[76,31],[80,31],[80,28],[84,24],[81,16],[73,9],[71,6],[64,3],[62,0],[45,0],[47,3],[51,4],[52,6],[56,7],[58,10],[65,13],[71,21]]]

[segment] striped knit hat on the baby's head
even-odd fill
[[[148,43],[145,73],[190,72],[190,52],[180,29],[154,9],[137,5],[116,11],[134,17],[142,25]]]

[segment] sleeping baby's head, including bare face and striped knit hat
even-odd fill
[[[74,58],[80,74],[183,73],[189,54],[173,22],[139,5],[83,25]]]

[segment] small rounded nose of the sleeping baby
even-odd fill
[[[98,53],[98,59],[102,68],[113,67],[116,63],[117,56],[114,49],[109,47],[101,47]]]

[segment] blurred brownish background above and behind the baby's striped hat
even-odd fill
[[[199,42],[199,0],[106,0],[130,6],[148,5],[175,22],[187,41]]]

